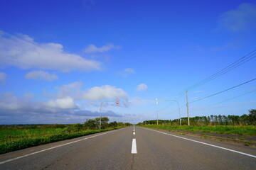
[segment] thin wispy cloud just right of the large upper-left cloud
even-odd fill
[[[90,44],[85,47],[85,50],[83,52],[85,53],[92,53],[92,52],[107,52],[112,49],[119,49],[121,46],[119,45],[112,45],[112,44],[107,44],[103,45],[102,47],[96,47],[96,45]]]

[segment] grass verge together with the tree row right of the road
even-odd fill
[[[190,126],[188,119],[181,118],[182,126],[179,125],[179,119],[175,120],[159,120],[159,125],[156,125],[156,120],[146,120],[142,125],[148,128],[161,128],[169,130],[189,130],[199,132],[216,132],[220,134],[234,135],[256,135],[256,109],[251,109],[246,115],[210,115],[196,116],[190,118]]]

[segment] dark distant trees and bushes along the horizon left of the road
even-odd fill
[[[101,118],[101,129],[106,128],[117,128],[130,126],[131,123],[122,122],[109,122],[109,118]],[[36,128],[65,128],[67,131],[80,131],[80,130],[98,130],[100,129],[100,118],[88,119],[85,123],[76,124],[15,124],[15,125],[0,125],[0,128],[11,128],[11,129],[36,129]]]

